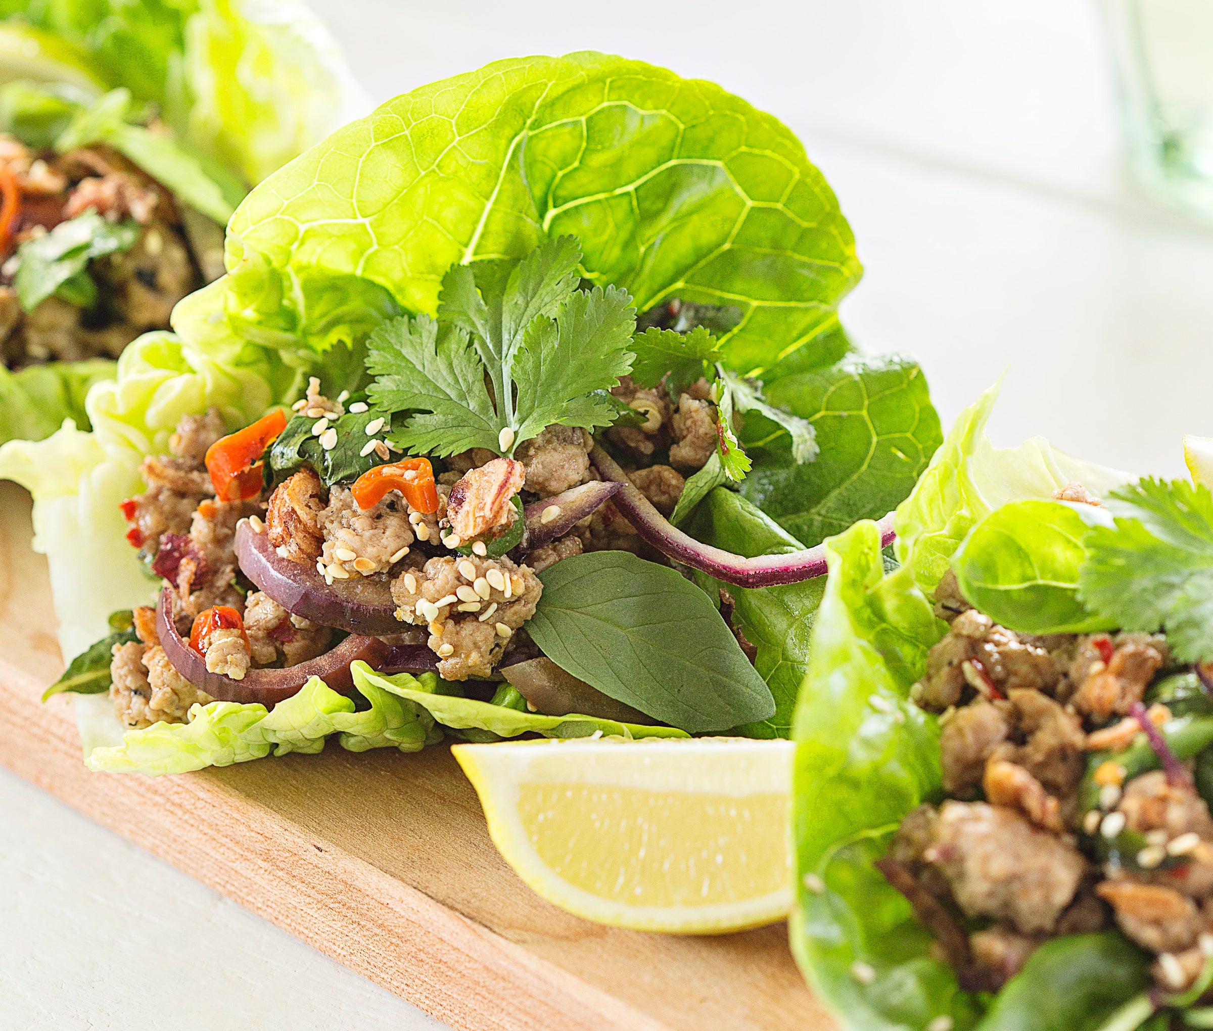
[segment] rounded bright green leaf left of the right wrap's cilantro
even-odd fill
[[[996,508],[952,556],[961,593],[995,622],[1024,633],[1114,630],[1115,621],[1078,600],[1083,541],[1100,517],[1111,522],[1103,508],[1061,501],[1012,501]]]

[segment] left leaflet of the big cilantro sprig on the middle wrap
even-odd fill
[[[366,368],[376,376],[368,397],[378,412],[412,410],[393,442],[415,454],[497,450],[502,422],[484,386],[484,369],[466,329],[443,334],[428,315],[385,323],[368,342]]]

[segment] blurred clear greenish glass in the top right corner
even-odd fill
[[[1213,0],[1103,0],[1129,159],[1158,200],[1213,222]]]

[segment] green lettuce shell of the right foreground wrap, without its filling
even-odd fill
[[[793,728],[791,938],[805,978],[847,1027],[1098,1029],[1149,981],[1143,953],[1105,932],[1041,946],[992,1002],[967,993],[873,866],[901,819],[941,793],[938,720],[909,691],[947,628],[928,597],[961,542],[1004,503],[1047,500],[1075,480],[1104,496],[1129,479],[1041,439],[992,448],[984,427],[995,394],[961,415],[899,507],[900,568],[885,571],[870,523],[826,545],[830,575]]]

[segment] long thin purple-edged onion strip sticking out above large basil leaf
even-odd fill
[[[600,445],[594,445],[594,450],[590,452],[590,461],[603,479],[620,484],[620,491],[611,501],[623,518],[636,528],[640,539],[683,565],[738,587],[799,583],[802,580],[811,580],[826,573],[826,553],[821,545],[798,552],[746,558],[696,541],[671,525]],[[887,547],[896,536],[893,532],[893,513],[881,519],[877,526],[881,531],[881,547]]]

